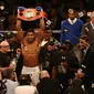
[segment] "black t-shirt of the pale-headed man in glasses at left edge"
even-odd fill
[[[10,58],[8,54],[0,52],[0,66],[7,67],[10,64]]]

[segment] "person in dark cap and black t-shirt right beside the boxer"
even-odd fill
[[[54,42],[48,42],[40,51],[40,63],[42,64],[42,70],[46,70],[53,79],[56,77],[56,65],[59,63],[58,51],[54,46]]]

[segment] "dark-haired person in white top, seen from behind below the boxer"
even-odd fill
[[[38,94],[36,87],[31,82],[30,75],[21,75],[14,94]]]

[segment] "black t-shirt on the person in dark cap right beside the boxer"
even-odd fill
[[[40,52],[40,63],[42,63],[43,70],[46,70],[50,74],[52,74],[53,66],[58,66],[58,52],[51,51],[49,52],[46,48],[42,48]]]

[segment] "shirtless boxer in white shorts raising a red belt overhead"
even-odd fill
[[[31,74],[35,84],[39,83],[39,52],[42,41],[41,31],[44,29],[44,20],[40,19],[40,29],[28,30],[25,32],[21,29],[21,20],[17,20],[17,38],[21,42],[21,51],[23,56],[22,74]]]

